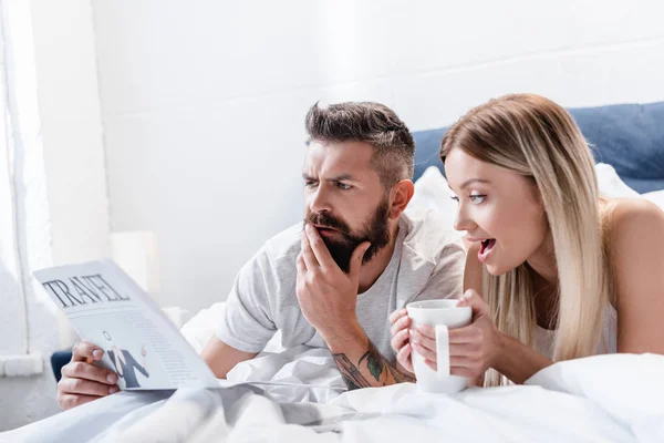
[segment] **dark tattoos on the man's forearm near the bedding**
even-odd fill
[[[345,353],[335,353],[332,357],[350,390],[392,383],[415,382],[414,377],[392,367],[371,341],[369,342],[366,352],[357,360],[357,364],[353,364]],[[365,369],[364,373],[362,369]]]

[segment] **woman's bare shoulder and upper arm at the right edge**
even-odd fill
[[[664,354],[664,212],[647,200],[621,200],[611,226],[618,352]]]

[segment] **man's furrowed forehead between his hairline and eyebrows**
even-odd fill
[[[363,142],[322,143],[312,141],[304,155],[304,172],[361,175],[371,169],[373,147]]]

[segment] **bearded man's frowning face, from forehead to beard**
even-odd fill
[[[318,228],[345,272],[357,245],[371,243],[366,262],[390,243],[390,200],[372,155],[367,143],[312,141],[304,157],[304,223]]]

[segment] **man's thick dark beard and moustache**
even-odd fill
[[[310,213],[304,218],[304,224],[336,229],[341,238],[321,236],[330,255],[336,265],[345,274],[351,270],[351,257],[355,248],[363,241],[370,241],[371,246],[364,253],[362,262],[365,264],[375,257],[381,249],[390,243],[390,229],[387,226],[390,214],[390,202],[385,197],[374,212],[371,219],[364,224],[360,233],[352,233],[349,225],[328,213]]]

